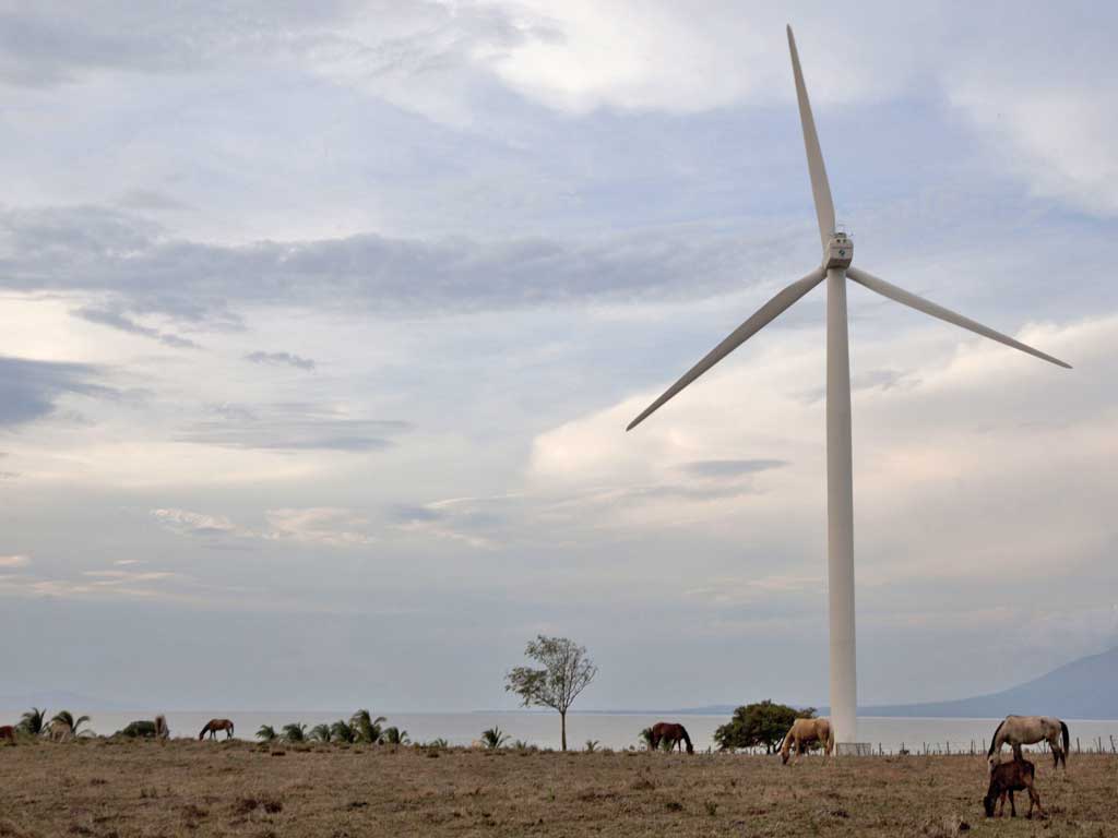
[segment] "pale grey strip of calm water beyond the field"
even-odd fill
[[[127,713],[93,713],[92,727],[95,733],[111,734],[136,718],[151,718],[151,711]],[[172,736],[197,736],[202,725],[210,718],[231,718],[239,739],[252,740],[260,725],[269,724],[277,731],[290,722],[306,724],[307,730],[321,722],[348,718],[348,712],[230,712],[230,711],[183,711],[164,714]],[[482,731],[499,726],[512,739],[540,747],[559,747],[559,716],[553,713],[381,713],[389,725],[407,731],[413,742],[424,742],[436,737],[447,740],[452,745],[468,745],[481,736]],[[0,724],[15,723],[19,712],[0,711]],[[614,713],[571,713],[567,716],[567,745],[581,749],[587,740],[595,740],[604,747],[624,749],[639,745],[641,731],[661,721],[664,716],[628,715]],[[672,721],[682,723],[691,734],[695,749],[705,750],[713,745],[714,729],[728,721],[728,716],[684,715]],[[922,751],[927,745],[931,751],[968,751],[970,743],[980,749],[988,742],[999,720],[996,718],[860,718],[859,739],[871,743],[874,749],[897,751],[903,744],[912,752]],[[1078,737],[1083,750],[1095,750],[1101,737],[1106,750],[1111,740],[1118,743],[1118,721],[1068,721],[1071,730],[1072,749]],[[224,735],[224,734],[222,734]]]

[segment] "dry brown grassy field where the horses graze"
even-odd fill
[[[1118,759],[1038,760],[1048,820],[986,820],[975,756],[777,758],[88,741],[0,747],[0,836],[1090,836]],[[963,826],[963,825],[966,826]]]

